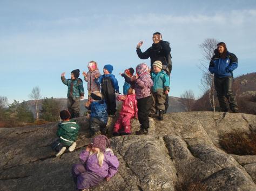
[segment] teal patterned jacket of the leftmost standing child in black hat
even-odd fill
[[[80,78],[76,79],[66,79],[64,76],[61,77],[63,84],[68,86],[68,98],[79,98],[84,96],[84,86],[83,81]]]

